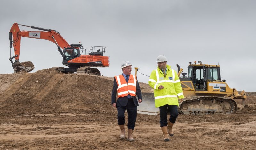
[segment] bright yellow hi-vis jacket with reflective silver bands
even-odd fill
[[[171,69],[171,66],[169,65],[167,65],[165,78],[161,69],[157,67],[156,70],[153,70],[148,84],[154,89],[155,107],[167,104],[179,106],[178,98],[184,98],[180,79],[176,71]],[[158,89],[160,85],[164,86],[164,88]]]

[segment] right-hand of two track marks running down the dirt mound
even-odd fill
[[[45,86],[33,97],[36,101],[41,101],[48,93],[56,86],[63,74],[54,74],[52,78],[45,84]]]

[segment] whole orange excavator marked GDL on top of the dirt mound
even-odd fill
[[[10,61],[14,69],[14,73],[17,72],[30,72],[34,69],[34,65],[31,62],[19,62],[20,58],[20,41],[21,37],[46,39],[56,44],[58,51],[62,56],[62,64],[68,66],[68,68],[58,67],[61,72],[64,73],[88,73],[93,75],[100,75],[100,71],[91,67],[108,67],[109,57],[103,56],[106,47],[104,46],[82,46],[82,44],[68,44],[63,39],[60,33],[52,29],[44,29],[35,26],[27,26],[32,29],[42,31],[20,31],[18,23],[14,23],[9,33],[10,41]],[[13,36],[13,40],[12,40]],[[12,56],[12,45],[14,47],[15,55]],[[15,58],[13,62],[12,59]]]

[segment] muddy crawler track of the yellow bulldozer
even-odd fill
[[[179,112],[185,115],[236,113],[237,104],[233,99],[217,96],[193,96],[183,99]]]

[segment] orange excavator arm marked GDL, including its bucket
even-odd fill
[[[21,37],[49,40],[57,45],[58,47],[57,49],[62,56],[63,56],[63,52],[61,48],[64,49],[65,47],[70,47],[68,42],[62,38],[59,32],[55,30],[22,25],[22,26],[33,28],[33,29],[43,30],[43,31],[24,31],[24,30],[20,31],[19,25],[20,24],[18,23],[14,23],[12,25],[12,28],[10,30],[10,35],[9,35],[9,40],[10,40],[10,59],[9,60],[12,63],[14,72],[21,72],[21,71],[30,72],[34,69],[33,64],[32,66],[23,66],[19,62]],[[13,40],[12,40],[12,36],[13,36]],[[15,54],[13,57],[12,57],[12,45],[14,47],[14,54]],[[15,58],[14,62],[12,61],[13,58]]]

